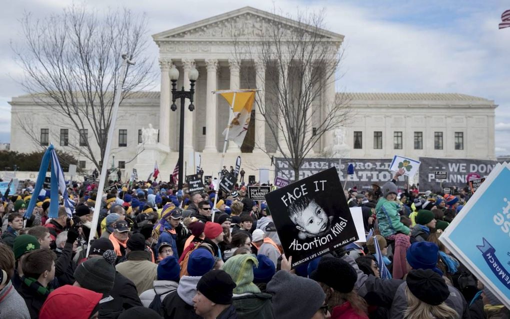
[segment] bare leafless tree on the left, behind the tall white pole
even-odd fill
[[[127,9],[99,14],[71,5],[44,19],[25,13],[21,24],[23,43],[12,45],[24,71],[20,83],[35,104],[48,110],[34,115],[53,117],[50,124],[74,132],[67,146],[100,169],[119,77],[124,83],[121,101],[154,81],[153,61],[145,54],[150,39],[145,16]],[[122,53],[137,61],[124,74]],[[25,122],[18,125],[36,138]]]

